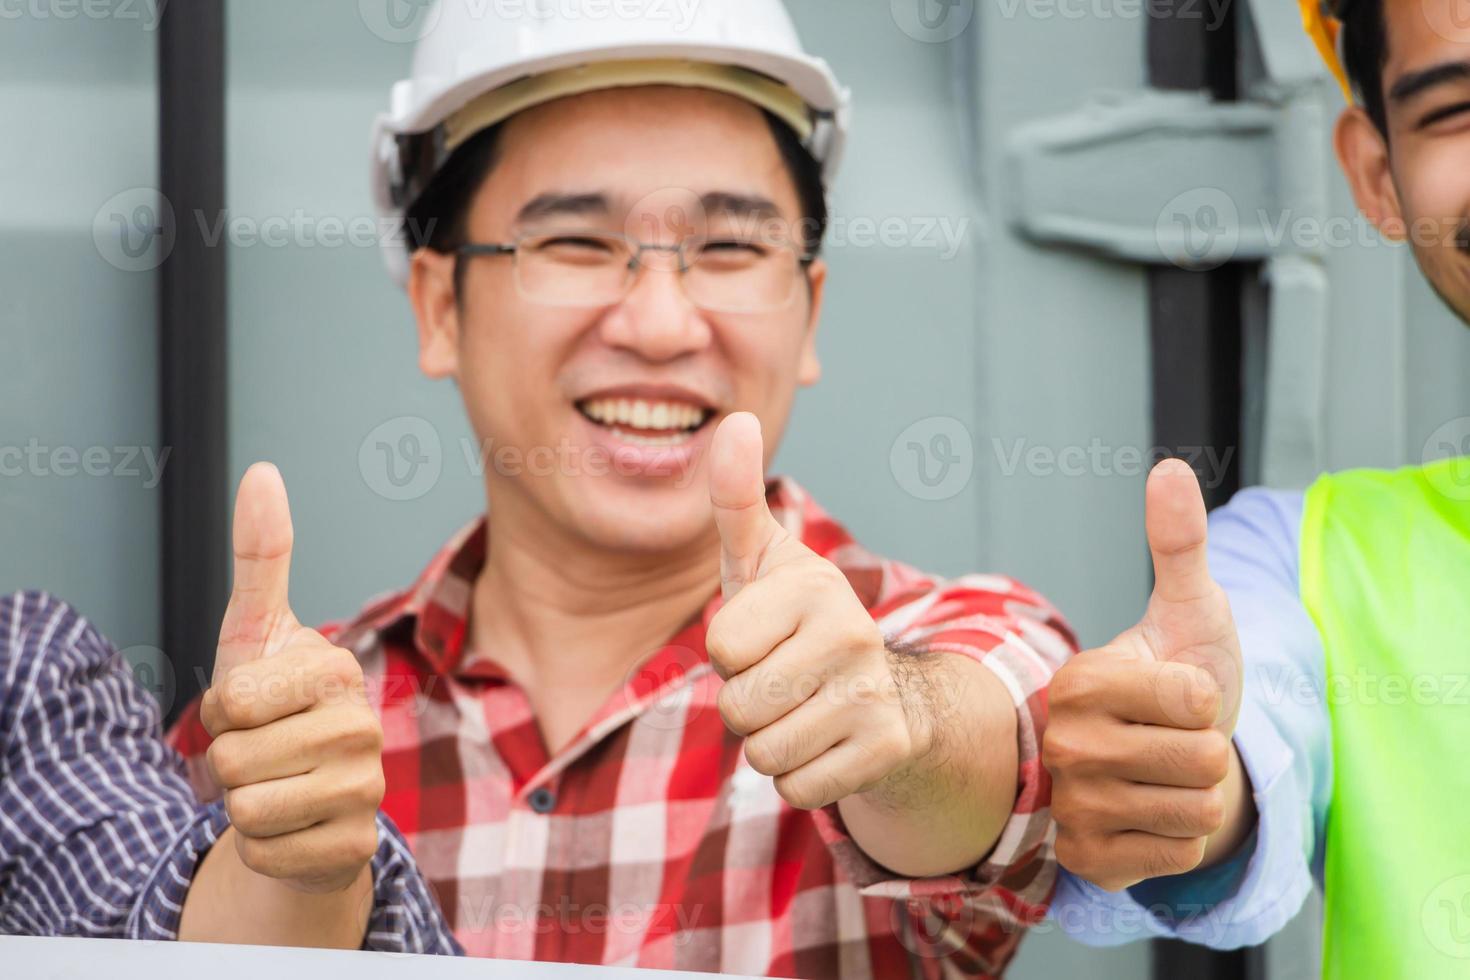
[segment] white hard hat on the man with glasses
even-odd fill
[[[373,122],[372,190],[384,259],[409,279],[403,216],[462,143],[563,96],[675,84],[741,96],[786,120],[831,182],[851,97],[807,54],[781,0],[438,0]]]

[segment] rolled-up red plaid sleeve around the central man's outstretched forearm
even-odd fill
[[[1022,934],[1045,914],[1057,882],[1051,780],[1041,765],[1047,688],[1076,652],[1061,616],[1035,592],[998,576],[967,576],[908,591],[873,610],[904,646],[972,657],[1005,686],[1016,707],[1016,802],[995,846],[964,874],[903,879],[848,836],[836,805],[814,814],[835,862],[863,895],[904,902],[895,923],[910,949],[947,958],[966,976],[998,974]]]

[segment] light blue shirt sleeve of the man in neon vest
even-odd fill
[[[1214,949],[1254,946],[1280,930],[1322,880],[1332,796],[1330,726],[1322,638],[1301,604],[1299,492],[1250,489],[1210,517],[1210,572],[1230,598],[1245,657],[1235,748],[1258,821],[1244,871],[1154,879],[1105,892],[1063,871],[1051,918],[1073,939],[1116,946],[1182,939]],[[1236,864],[1236,862],[1232,862]]]

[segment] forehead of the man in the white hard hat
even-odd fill
[[[585,93],[506,123],[484,188],[491,210],[547,194],[603,194],[632,206],[688,188],[764,197],[797,209],[795,187],[764,113],[698,88],[650,85]]]

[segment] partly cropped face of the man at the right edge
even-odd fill
[[[1408,241],[1439,295],[1470,323],[1470,24],[1463,0],[1380,0],[1385,134],[1361,109],[1336,147],[1364,215]]]

